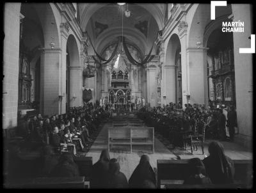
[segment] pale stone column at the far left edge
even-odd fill
[[[21,3],[4,4],[3,129],[17,126]]]

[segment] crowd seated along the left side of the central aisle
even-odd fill
[[[97,127],[101,120],[106,117],[102,108],[72,108],[65,115],[54,115],[50,118],[27,117],[26,122],[18,125],[19,135],[28,143],[51,144],[60,147],[61,143],[74,143],[77,148],[85,151],[88,144],[92,143],[97,133]],[[92,136],[92,137],[90,137]],[[94,137],[93,137],[94,136]],[[76,148],[74,148],[76,154]]]

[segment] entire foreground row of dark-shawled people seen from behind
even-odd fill
[[[19,163],[19,147],[12,149],[9,173],[15,176],[26,173]],[[184,184],[230,184],[234,183],[234,164],[227,157],[223,145],[219,141],[212,141],[209,145],[210,155],[203,161],[198,158],[189,160],[189,176]],[[70,152],[58,157],[51,146],[46,146],[36,168],[40,169],[40,176],[49,178],[72,178],[79,176],[79,169],[74,162],[74,155]],[[22,176],[20,176],[22,177]],[[90,187],[92,189],[114,188],[156,188],[156,174],[150,166],[148,155],[142,155],[140,163],[127,180],[120,171],[117,159],[110,159],[108,150],[102,150],[100,159],[93,164]]]

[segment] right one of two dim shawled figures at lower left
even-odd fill
[[[73,155],[68,153],[62,154],[60,161],[50,174],[54,178],[73,178],[79,176],[77,164],[74,162]]]

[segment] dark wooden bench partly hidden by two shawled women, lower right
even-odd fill
[[[252,160],[234,160],[236,183],[246,184],[252,180]],[[181,183],[188,177],[188,159],[157,160],[157,186],[167,183]]]

